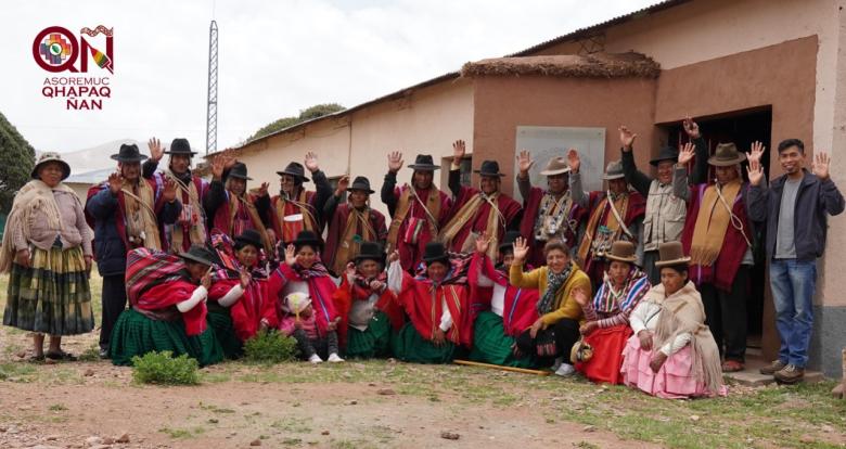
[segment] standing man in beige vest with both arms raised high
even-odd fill
[[[690,117],[682,121],[684,132],[696,146],[696,159],[708,158],[708,145],[702,138],[700,126]],[[623,145],[620,161],[626,181],[641,195],[646,197],[646,211],[643,217],[643,272],[650,278],[650,283],[655,285],[661,282],[661,271],[655,268],[658,259],[658,245],[665,242],[681,240],[681,231],[684,229],[687,217],[687,204],[684,200],[672,194],[672,169],[679,158],[679,151],[674,146],[665,146],[658,153],[658,157],[650,161],[650,165],[657,168],[657,178],[652,179],[634,165],[634,139],[638,134],[631,132],[625,126],[619,127],[619,141]],[[705,182],[708,177],[708,166],[697,166],[690,177],[692,184]],[[704,171],[702,171],[704,169]]]

